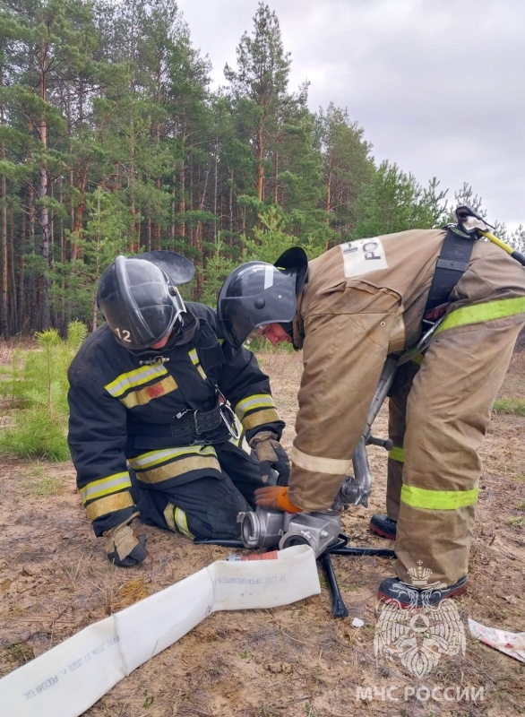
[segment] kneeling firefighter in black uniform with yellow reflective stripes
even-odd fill
[[[174,252],[117,256],[99,281],[107,323],[69,368],[77,485],[116,566],[148,555],[139,514],[189,538],[235,539],[254,489],[288,480],[268,376],[222,340],[213,309],[185,304],[176,286],[193,275]]]

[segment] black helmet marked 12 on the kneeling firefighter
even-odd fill
[[[194,272],[193,263],[175,252],[117,256],[97,290],[97,305],[116,341],[143,350],[167,336],[185,311],[176,285],[190,281]]]

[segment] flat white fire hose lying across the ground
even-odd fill
[[[277,608],[320,592],[314,551],[306,545],[275,552],[274,559],[218,560],[0,679],[1,712],[79,717],[212,612]]]

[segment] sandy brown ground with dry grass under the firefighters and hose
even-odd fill
[[[284,443],[289,447],[301,357],[265,353],[261,359],[288,422]],[[524,367],[523,355],[516,355],[502,397],[525,398]],[[384,437],[385,425],[383,410],[374,433]],[[473,618],[512,632],[525,630],[524,428],[525,418],[495,415],[483,447],[469,591],[454,601],[465,627]],[[367,531],[369,517],[384,510],[385,452],[371,448],[370,460],[370,505],[350,509],[344,529],[358,547],[390,547]],[[116,568],[85,518],[71,463],[3,458],[0,481],[0,676],[231,552],[139,524],[151,558],[133,569]],[[332,617],[331,593],[320,570],[321,595],[279,609],[211,615],[134,670],[85,715],[525,714],[525,664],[478,643],[467,628],[465,654],[443,656],[422,680],[400,661],[376,660],[375,590],[393,574],[390,561],[332,557],[332,563],[348,618]],[[352,626],[353,618],[364,626]],[[443,699],[445,687],[452,699]],[[2,706],[0,713],[17,717]]]

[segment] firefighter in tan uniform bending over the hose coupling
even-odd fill
[[[399,599],[418,566],[432,571],[440,599],[466,589],[478,449],[525,323],[521,264],[459,227],[452,233],[469,243],[469,259],[444,262],[445,271],[461,271],[433,307],[441,323],[425,355],[400,365],[392,384],[387,509],[397,529],[397,578],[381,583],[383,600]],[[415,346],[426,327],[445,236],[445,229],[409,230],[335,246],[309,263],[296,247],[275,266],[246,263],[228,276],[218,304],[228,341],[239,347],[258,333],[304,352],[289,488],[257,490],[257,505],[331,506],[385,359]]]

